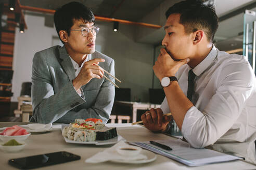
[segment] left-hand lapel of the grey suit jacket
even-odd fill
[[[59,56],[60,59],[62,59],[62,62],[60,63],[62,68],[65,70],[66,74],[69,77],[69,80],[73,80],[75,78],[75,70],[71,63],[70,57],[67,53],[67,50],[65,46],[62,46],[59,48]]]

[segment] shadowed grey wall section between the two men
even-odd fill
[[[153,45],[135,43],[136,26],[119,24],[118,32],[113,32],[113,23],[97,22],[100,33],[96,44],[101,52],[115,61],[116,76],[121,88],[131,88],[134,97],[148,102],[148,88],[152,86]]]

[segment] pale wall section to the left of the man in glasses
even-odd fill
[[[52,37],[58,36],[54,28],[44,26],[44,17],[25,15],[25,21],[28,30],[21,34],[16,28],[15,33],[12,102],[16,102],[20,96],[22,82],[31,81],[32,59],[35,52],[52,46]]]

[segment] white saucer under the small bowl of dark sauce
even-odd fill
[[[131,163],[131,164],[140,164],[140,163],[148,163],[155,161],[157,159],[157,155],[153,152],[148,150],[142,150],[140,154],[144,154],[147,156],[145,160],[111,160],[111,162],[118,162],[118,163]]]

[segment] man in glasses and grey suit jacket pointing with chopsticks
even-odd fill
[[[64,45],[35,53],[30,121],[70,123],[78,118],[98,118],[107,123],[114,86],[103,78],[103,68],[114,75],[114,61],[95,51],[99,27],[94,21],[93,12],[78,2],[56,10],[56,31]]]

